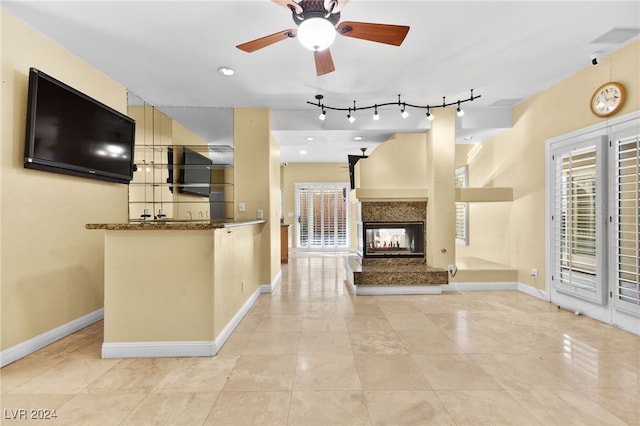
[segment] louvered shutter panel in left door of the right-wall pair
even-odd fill
[[[605,139],[557,147],[553,161],[553,270],[558,291],[602,303],[605,295],[601,224]]]

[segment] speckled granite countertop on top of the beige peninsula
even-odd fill
[[[86,229],[105,229],[108,231],[198,231],[207,229],[233,228],[237,226],[266,223],[259,220],[136,220],[126,223],[87,223]]]

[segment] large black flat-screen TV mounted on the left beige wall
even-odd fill
[[[129,183],[134,144],[133,119],[29,70],[25,168]]]

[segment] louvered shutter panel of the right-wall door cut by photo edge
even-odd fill
[[[640,136],[614,140],[612,281],[616,308],[640,313]]]

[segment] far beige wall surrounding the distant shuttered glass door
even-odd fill
[[[296,183],[312,183],[312,182],[332,182],[349,184],[349,167],[348,163],[289,163],[282,166],[281,188],[284,197],[284,224],[292,225],[289,228],[290,239],[295,247],[296,227],[295,227],[295,185]],[[278,190],[279,191],[279,190]],[[350,229],[350,245],[352,248],[357,246],[356,229],[355,229],[355,208],[350,205],[351,229]],[[291,214],[291,215],[290,215]]]

